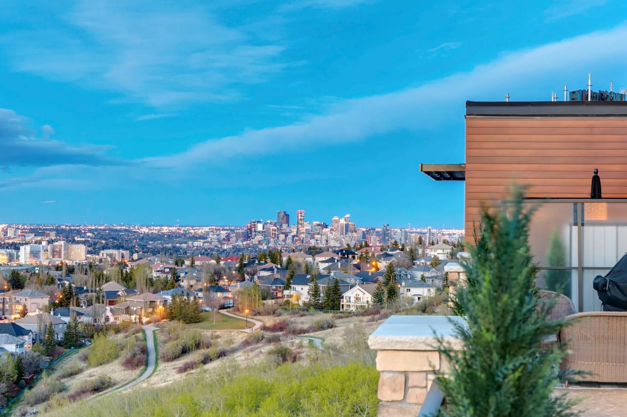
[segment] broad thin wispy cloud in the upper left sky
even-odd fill
[[[157,108],[238,100],[238,86],[263,83],[289,65],[285,46],[253,39],[206,8],[155,3],[83,0],[53,29],[15,30],[0,45],[15,70]]]

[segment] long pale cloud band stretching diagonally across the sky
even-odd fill
[[[219,178],[226,175],[224,172],[229,172],[224,171],[224,164],[245,161],[247,157],[277,155],[277,152],[281,156],[287,152],[307,153],[325,146],[374,140],[394,132],[407,132],[408,140],[420,140],[421,132],[448,127],[451,120],[463,120],[465,100],[500,100],[505,92],[510,92],[514,99],[529,100],[537,98],[538,92],[558,89],[564,83],[572,85],[576,80],[584,83],[589,71],[599,80],[609,80],[613,73],[626,73],[627,63],[613,59],[627,54],[625,38],[626,26],[577,36],[503,54],[472,71],[443,77],[420,87],[338,100],[324,113],[303,117],[293,124],[209,139],[178,154],[138,159],[128,168],[73,167],[58,169],[53,175],[55,167],[48,167],[24,177],[24,182],[41,186],[37,182],[41,178],[54,178],[58,184],[64,180],[92,179],[91,184],[105,186],[102,184],[108,183],[110,187],[118,187],[122,177],[134,184],[145,184],[147,179],[180,184],[199,175],[219,182]],[[583,50],[587,51],[586,60],[581,60]],[[19,131],[20,127],[11,129]],[[251,172],[254,178],[255,170]],[[18,186],[18,182],[18,179],[12,179],[11,184],[0,181],[0,187]],[[50,187],[58,184],[46,182]]]

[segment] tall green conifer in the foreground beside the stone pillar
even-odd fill
[[[535,297],[535,267],[529,246],[533,211],[522,192],[498,214],[482,213],[472,261],[464,264],[466,285],[453,301],[465,324],[453,324],[462,344],[440,355],[450,363],[440,387],[445,416],[570,416],[571,402],[554,395],[564,351],[545,348],[548,335],[565,322],[551,320]],[[488,359],[489,358],[489,359]]]

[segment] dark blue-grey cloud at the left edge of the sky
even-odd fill
[[[107,146],[71,145],[50,139],[55,130],[44,125],[41,137],[29,127],[29,120],[13,110],[0,108],[0,166],[46,167],[54,165],[91,164],[112,166],[125,164],[107,157]]]

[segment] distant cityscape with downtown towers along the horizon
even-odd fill
[[[245,226],[147,226],[125,224],[0,224],[0,265],[49,261],[112,263],[148,256],[230,256],[263,250],[337,249],[350,246],[404,247],[455,243],[463,229],[359,227],[346,214],[330,223],[310,221],[298,210],[276,220],[251,220]]]

